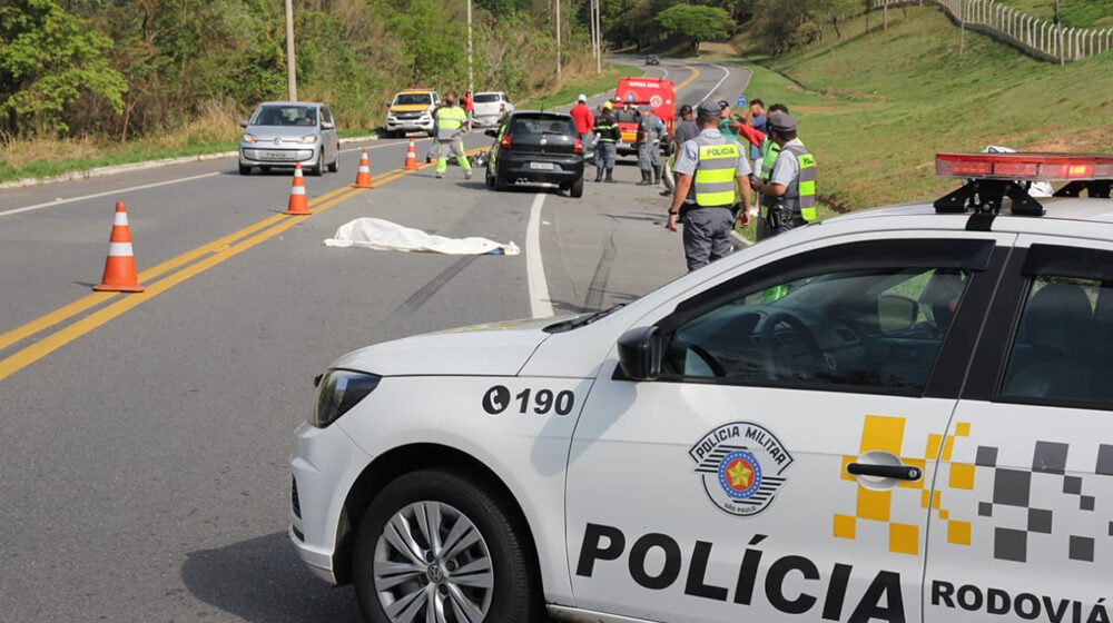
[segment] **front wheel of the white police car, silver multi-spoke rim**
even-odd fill
[[[442,471],[401,476],[372,502],[355,546],[355,590],[373,623],[538,621],[523,531],[506,503]]]

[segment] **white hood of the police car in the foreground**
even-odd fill
[[[475,325],[367,346],[332,365],[380,376],[513,376],[556,318]]]

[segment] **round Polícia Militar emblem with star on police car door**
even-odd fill
[[[703,435],[688,451],[708,498],[722,511],[749,517],[765,511],[792,455],[776,435],[752,422],[731,422]]]

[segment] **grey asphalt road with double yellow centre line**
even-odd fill
[[[732,99],[748,77],[654,72],[689,103]],[[376,187],[347,190],[364,146]],[[633,158],[620,184],[571,199],[494,192],[482,170],[403,175],[405,140],[342,148],[341,172],[306,178],[309,217],[278,214],[288,171],[242,177],[232,158],[0,194],[0,621],[357,621],[352,590],[313,577],[285,534],[312,377],[363,345],[604,308],[683,273],[667,198],[633,186]],[[148,290],[90,296],[116,201]],[[364,216],[523,253],[323,245]]]

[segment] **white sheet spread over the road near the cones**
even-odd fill
[[[446,238],[426,234],[381,218],[357,218],[345,222],[336,235],[325,240],[329,247],[361,247],[384,251],[426,251],[449,255],[518,255],[514,243],[486,238]]]

